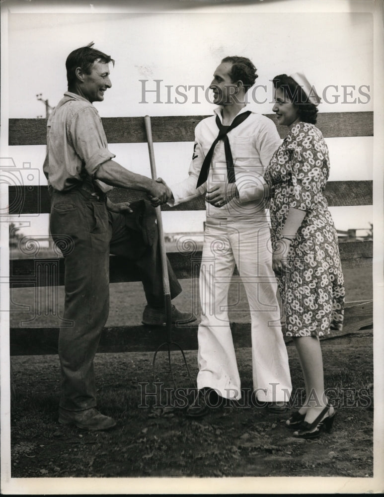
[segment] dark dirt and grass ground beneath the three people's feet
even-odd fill
[[[288,345],[294,393],[304,388],[294,346]],[[36,477],[373,476],[372,335],[322,341],[325,385],[338,406],[331,433],[293,438],[286,415],[247,398],[249,349],[236,351],[243,405],[189,419],[185,410],[154,409],[153,353],[98,354],[99,409],[117,420],[109,432],[84,432],[57,421],[57,356],[12,357],[16,401],[11,409],[11,473]],[[186,352],[192,377],[196,351]],[[190,387],[181,354],[172,353],[178,386]],[[156,375],[172,388],[166,354]],[[147,383],[146,383],[147,382]],[[165,405],[164,396],[160,404]]]

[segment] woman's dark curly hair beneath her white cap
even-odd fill
[[[309,101],[308,95],[300,84],[296,83],[293,78],[286,74],[275,76],[272,83],[276,89],[281,88],[284,91],[284,95],[298,107],[298,116],[301,121],[316,124],[317,107]]]

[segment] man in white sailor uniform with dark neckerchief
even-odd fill
[[[222,60],[210,85],[218,105],[215,116],[196,126],[189,176],[171,186],[168,197],[169,204],[177,205],[207,192],[199,282],[198,396],[188,408],[189,416],[207,413],[212,390],[227,399],[241,397],[228,319],[235,264],[251,313],[256,398],[279,412],[285,410],[292,390],[264,206],[263,172],[281,142],[274,123],[245,104],[246,92],[256,78],[249,59]],[[154,205],[161,202],[152,201]]]

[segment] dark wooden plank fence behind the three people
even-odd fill
[[[196,124],[207,116],[153,117],[152,132],[154,142],[194,141]],[[268,115],[275,123],[275,116]],[[146,142],[143,117],[103,118],[103,126],[109,143]],[[318,115],[317,126],[324,137],[373,136],[372,112],[335,112]],[[286,127],[277,126],[282,138],[287,135]],[[10,119],[9,145],[46,144],[45,119]],[[187,164],[185,165],[187,170]],[[8,187],[9,214],[38,214],[50,211],[46,186]],[[331,181],[328,182],[325,196],[330,206],[372,205],[372,181]],[[143,198],[143,192],[115,188],[110,197],[113,201],[136,200]],[[205,202],[199,197],[175,208],[167,205],[162,210],[203,210]],[[38,240],[37,240],[38,243]],[[372,241],[339,243],[343,268],[372,267]],[[38,248],[34,257],[10,260],[11,287],[44,287],[47,298],[49,285],[64,284],[64,263],[62,257],[39,257]],[[198,276],[201,260],[200,251],[170,252],[169,260],[178,278]],[[110,256],[110,282],[139,281],[134,266],[119,256]],[[52,293],[52,291],[51,291]],[[42,298],[44,298],[44,292]],[[372,326],[373,302],[353,302],[346,304],[343,331],[333,333],[338,336],[356,332]],[[250,346],[250,324],[231,323],[236,347]],[[173,336],[185,350],[197,348],[197,325],[174,328]],[[57,327],[20,327],[10,329],[11,355],[57,353],[59,329]],[[99,352],[151,351],[165,339],[161,327],[124,326],[105,328],[99,345]]]

